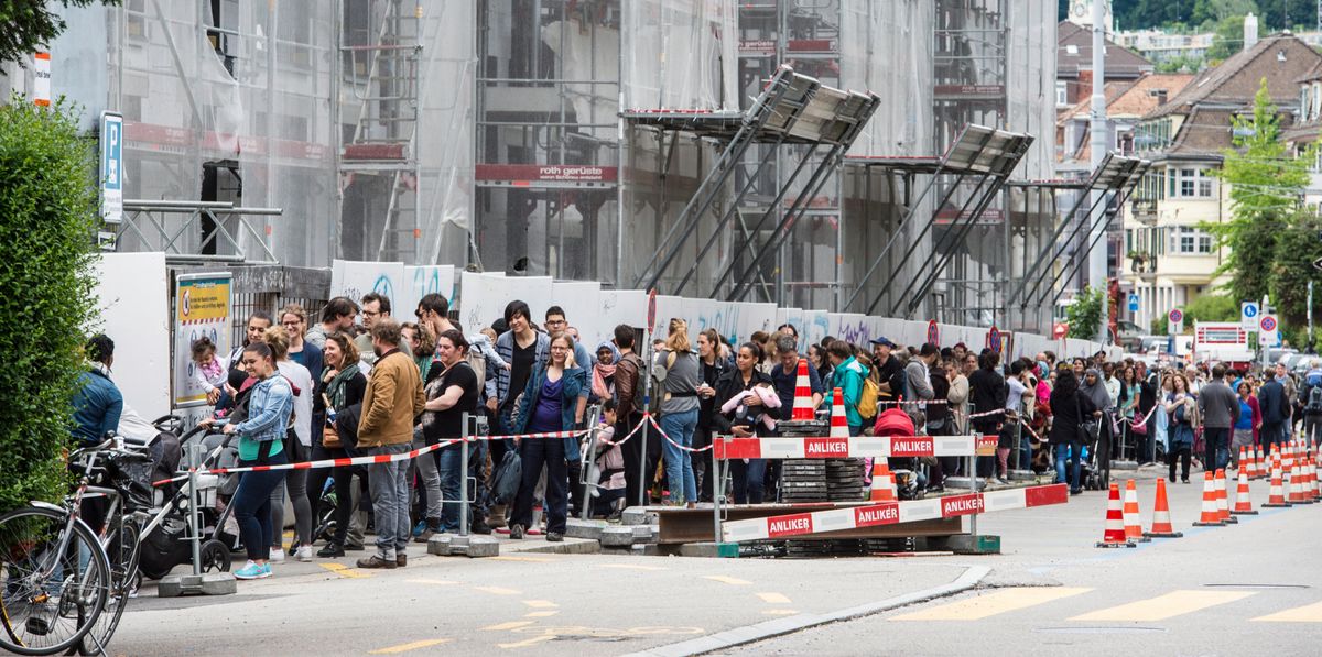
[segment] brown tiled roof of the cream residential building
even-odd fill
[[[1303,41],[1289,33],[1272,34],[1253,47],[1231,55],[1220,66],[1199,73],[1178,96],[1149,112],[1145,119],[1190,113],[1206,104],[1248,107],[1264,78],[1277,107],[1293,107],[1300,96],[1296,80],[1318,62],[1322,62],[1322,54]]]

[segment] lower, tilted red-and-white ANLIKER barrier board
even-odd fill
[[[1031,485],[1027,488],[1009,488],[982,493],[948,495],[925,500],[890,501],[843,509],[791,513],[769,518],[732,520],[720,525],[720,536],[726,542],[785,538],[866,526],[916,522],[920,520],[972,516],[993,511],[1066,504],[1068,499],[1069,492],[1066,484]]]

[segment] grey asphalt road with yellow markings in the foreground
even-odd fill
[[[1145,525],[1151,480],[1140,483]],[[1266,484],[1252,484],[1263,501]],[[769,624],[789,632],[722,653],[1318,654],[1322,504],[1191,529],[1200,487],[1171,487],[1185,538],[1099,550],[1105,499],[984,516],[1001,555],[705,559],[414,550],[394,571],[352,558],[276,566],[238,595],[134,600],[114,654],[625,654]],[[419,546],[422,548],[422,546]],[[361,554],[361,553],[358,553]],[[973,569],[973,570],[970,570]],[[842,610],[904,602],[970,575],[978,587],[857,620],[792,631]],[[1310,607],[1311,606],[1311,607]],[[886,604],[882,604],[886,607]],[[1229,629],[1229,632],[1227,632]]]

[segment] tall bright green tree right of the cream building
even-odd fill
[[[1232,124],[1235,145],[1223,152],[1225,160],[1216,172],[1231,185],[1231,216],[1222,223],[1204,223],[1203,228],[1216,237],[1219,247],[1228,248],[1218,273],[1231,274],[1231,297],[1256,299],[1270,290],[1276,240],[1303,197],[1311,154],[1286,153],[1265,78],[1253,98],[1253,115],[1236,117]]]

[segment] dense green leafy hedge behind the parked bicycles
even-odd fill
[[[62,103],[0,106],[0,512],[63,495],[93,318],[94,142]]]

